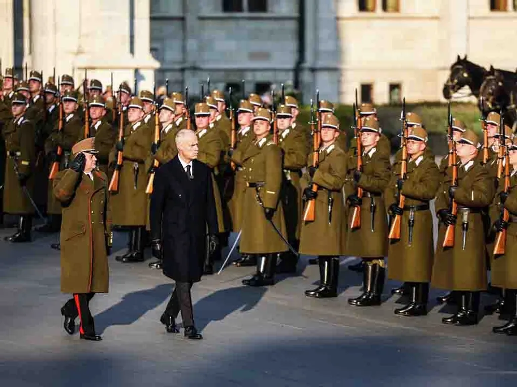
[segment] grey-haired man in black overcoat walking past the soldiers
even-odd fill
[[[201,339],[194,326],[190,289],[203,274],[207,233],[208,249],[217,248],[216,203],[210,168],[196,160],[194,132],[179,131],[176,146],[178,155],[156,171],[150,200],[153,254],[162,257],[163,274],[176,281],[160,321],[167,332],[178,333],[175,318],[181,311],[185,336]]]

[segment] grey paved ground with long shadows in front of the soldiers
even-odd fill
[[[12,230],[0,230],[0,236]],[[2,238],[3,239],[3,238]],[[486,316],[475,327],[440,324],[447,315],[393,315],[381,307],[347,304],[360,277],[341,264],[340,295],[308,299],[317,267],[300,264],[297,277],[268,288],[242,287],[252,268],[225,269],[193,288],[197,327],[205,339],[166,334],[159,316],[172,284],[147,263],[110,257],[111,291],[92,301],[104,340],[90,343],[62,329],[59,255],[48,246],[0,242],[0,385],[2,386],[342,386],[515,385],[517,337],[491,334],[501,324]],[[125,237],[116,235],[117,249]],[[432,300],[438,292],[432,292]],[[484,296],[484,302],[489,297]]]

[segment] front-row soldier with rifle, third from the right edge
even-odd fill
[[[410,302],[396,309],[400,316],[427,314],[429,283],[433,268],[433,218],[429,202],[436,196],[440,183],[438,166],[425,157],[427,132],[421,126],[408,129],[406,138],[407,167],[401,178],[402,163],[393,168],[384,197],[391,219],[401,217],[400,238],[390,239],[388,277],[404,281],[409,288]],[[400,195],[404,206],[399,206]]]

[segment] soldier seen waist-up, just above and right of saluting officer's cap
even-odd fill
[[[88,113],[90,117],[89,137],[95,137],[97,169],[109,176],[110,152],[117,140],[117,132],[113,130],[106,118],[106,103],[102,95],[95,94],[90,98]]]

